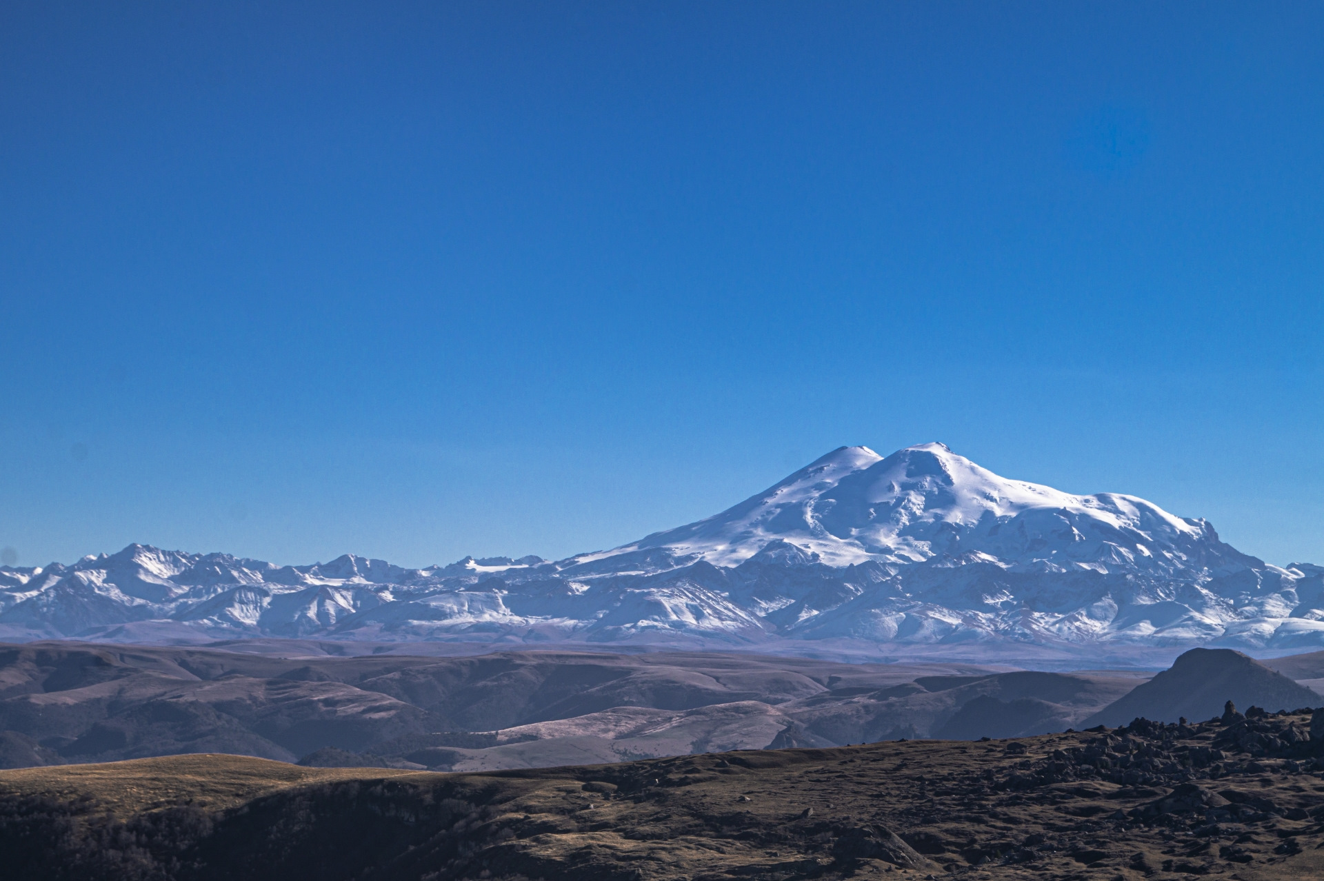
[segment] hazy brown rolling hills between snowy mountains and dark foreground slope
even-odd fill
[[[739,652],[285,656],[0,646],[0,766],[230,753],[314,767],[490,771],[749,749],[1027,737],[1226,700],[1313,706],[1324,653],[1192,650],[1169,671],[843,664]]]

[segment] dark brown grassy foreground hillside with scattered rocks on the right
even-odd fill
[[[5,877],[1324,877],[1309,718],[489,774],[193,755],[0,773]]]

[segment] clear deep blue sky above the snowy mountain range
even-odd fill
[[[560,557],[943,441],[1324,564],[1319,3],[0,4],[0,545]]]

